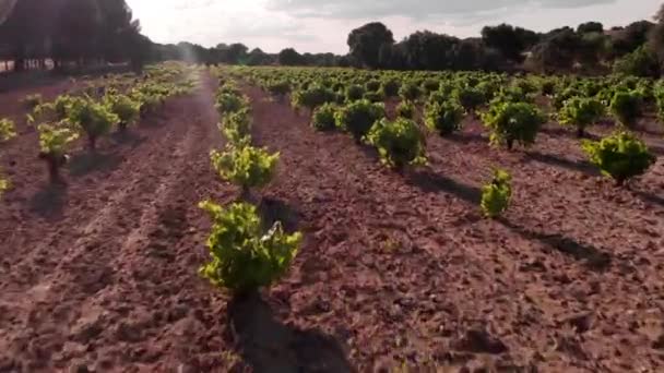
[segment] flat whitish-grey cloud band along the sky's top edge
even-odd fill
[[[297,17],[367,19],[404,16],[415,20],[441,15],[490,16],[507,11],[532,9],[571,9],[614,3],[616,0],[269,0],[268,9]]]

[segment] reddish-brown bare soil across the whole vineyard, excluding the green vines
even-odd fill
[[[22,100],[107,81],[0,94],[0,118],[17,132],[0,144],[12,184],[0,200],[0,372],[664,366],[664,127],[652,106],[633,132],[656,161],[616,186],[555,120],[532,146],[508,152],[470,112],[451,135],[423,130],[427,165],[393,170],[374,147],[317,131],[310,110],[290,105],[297,82],[317,74],[367,82],[379,73],[175,71],[164,74],[185,76],[190,89],[95,152],[78,140],[60,183],[37,158],[39,133]],[[266,76],[289,80],[293,93],[271,95]],[[273,180],[253,191],[261,216],[303,234],[289,270],[260,297],[234,298],[198,273],[211,232],[199,202],[241,198],[210,161],[227,142],[220,80],[246,96],[253,144],[280,153]],[[394,119],[400,99],[379,100]],[[422,122],[425,105],[415,103]],[[586,137],[615,125],[605,116]],[[496,167],[513,192],[490,219],[479,204]]]

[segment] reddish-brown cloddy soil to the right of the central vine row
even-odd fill
[[[257,141],[282,153],[265,194],[307,238],[273,290],[287,324],[320,328],[359,371],[664,364],[662,160],[616,191],[573,139],[553,131],[507,154],[470,123],[452,140],[430,136],[430,166],[402,177],[348,136],[248,93]],[[514,176],[514,205],[487,221],[479,186],[496,166]]]

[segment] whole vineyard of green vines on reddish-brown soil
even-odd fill
[[[0,103],[0,372],[664,366],[662,81],[167,62]]]

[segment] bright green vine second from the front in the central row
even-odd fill
[[[278,153],[269,154],[263,148],[229,144],[223,153],[210,152],[210,159],[220,177],[240,186],[247,196],[251,188],[262,188],[272,180]]]

